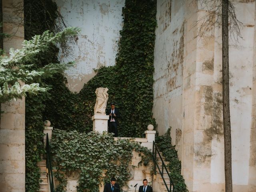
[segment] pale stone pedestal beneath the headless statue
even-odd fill
[[[93,131],[98,131],[103,133],[104,131],[108,132],[108,119],[109,116],[106,114],[94,114],[92,116],[93,121]]]

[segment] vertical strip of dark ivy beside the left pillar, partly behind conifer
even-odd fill
[[[32,39],[34,35],[42,34],[46,30],[56,32],[54,20],[58,16],[56,3],[52,0],[24,0],[24,7],[16,7],[16,12],[24,8],[24,35],[26,40]],[[41,51],[33,63],[34,68],[40,68],[49,63],[58,63],[56,57],[58,48],[52,45],[48,50]],[[27,63],[29,64],[29,63]],[[46,86],[44,82],[40,82]],[[46,108],[44,103],[46,98],[50,98],[47,92],[37,96],[27,95],[26,97],[26,192],[36,192],[40,188],[40,169],[37,163],[41,160],[41,155],[45,153],[42,138],[44,136],[43,111]]]

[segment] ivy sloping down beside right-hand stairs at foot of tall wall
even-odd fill
[[[178,192],[188,192],[185,180],[181,174],[181,163],[178,159],[177,151],[175,150],[175,146],[172,145],[170,131],[171,129],[169,128],[164,135],[156,136],[155,141],[159,150],[165,157],[165,160],[169,161],[168,167],[171,179],[174,182],[175,190]]]

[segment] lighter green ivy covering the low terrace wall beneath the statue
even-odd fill
[[[100,182],[109,182],[116,177],[121,186],[127,184],[130,177],[128,166],[132,160],[132,151],[140,154],[138,165],[152,160],[148,148],[129,140],[114,140],[112,134],[97,132],[81,133],[54,129],[52,134],[52,159],[57,169],[59,181],[57,192],[65,192],[68,171],[80,171],[78,192],[98,192]],[[106,176],[102,178],[102,173]]]

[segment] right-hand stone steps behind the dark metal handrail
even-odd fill
[[[162,159],[164,160],[165,157],[163,156],[162,152],[160,152],[160,155],[161,155]],[[159,168],[162,169],[162,161],[161,161],[158,154],[156,154],[156,158],[157,158]],[[167,167],[169,162],[164,161],[164,164],[165,164],[168,172],[170,172],[169,168]],[[160,175],[160,173],[158,171],[158,168],[156,168],[156,172],[157,172],[156,178],[154,179],[154,182],[153,182],[154,192],[168,192],[167,189],[166,189],[166,186],[164,184],[164,181],[162,179],[162,176]],[[165,169],[164,169],[164,179],[165,179],[165,182],[166,182],[167,186],[170,187],[170,180],[169,180],[168,174],[166,173]]]

